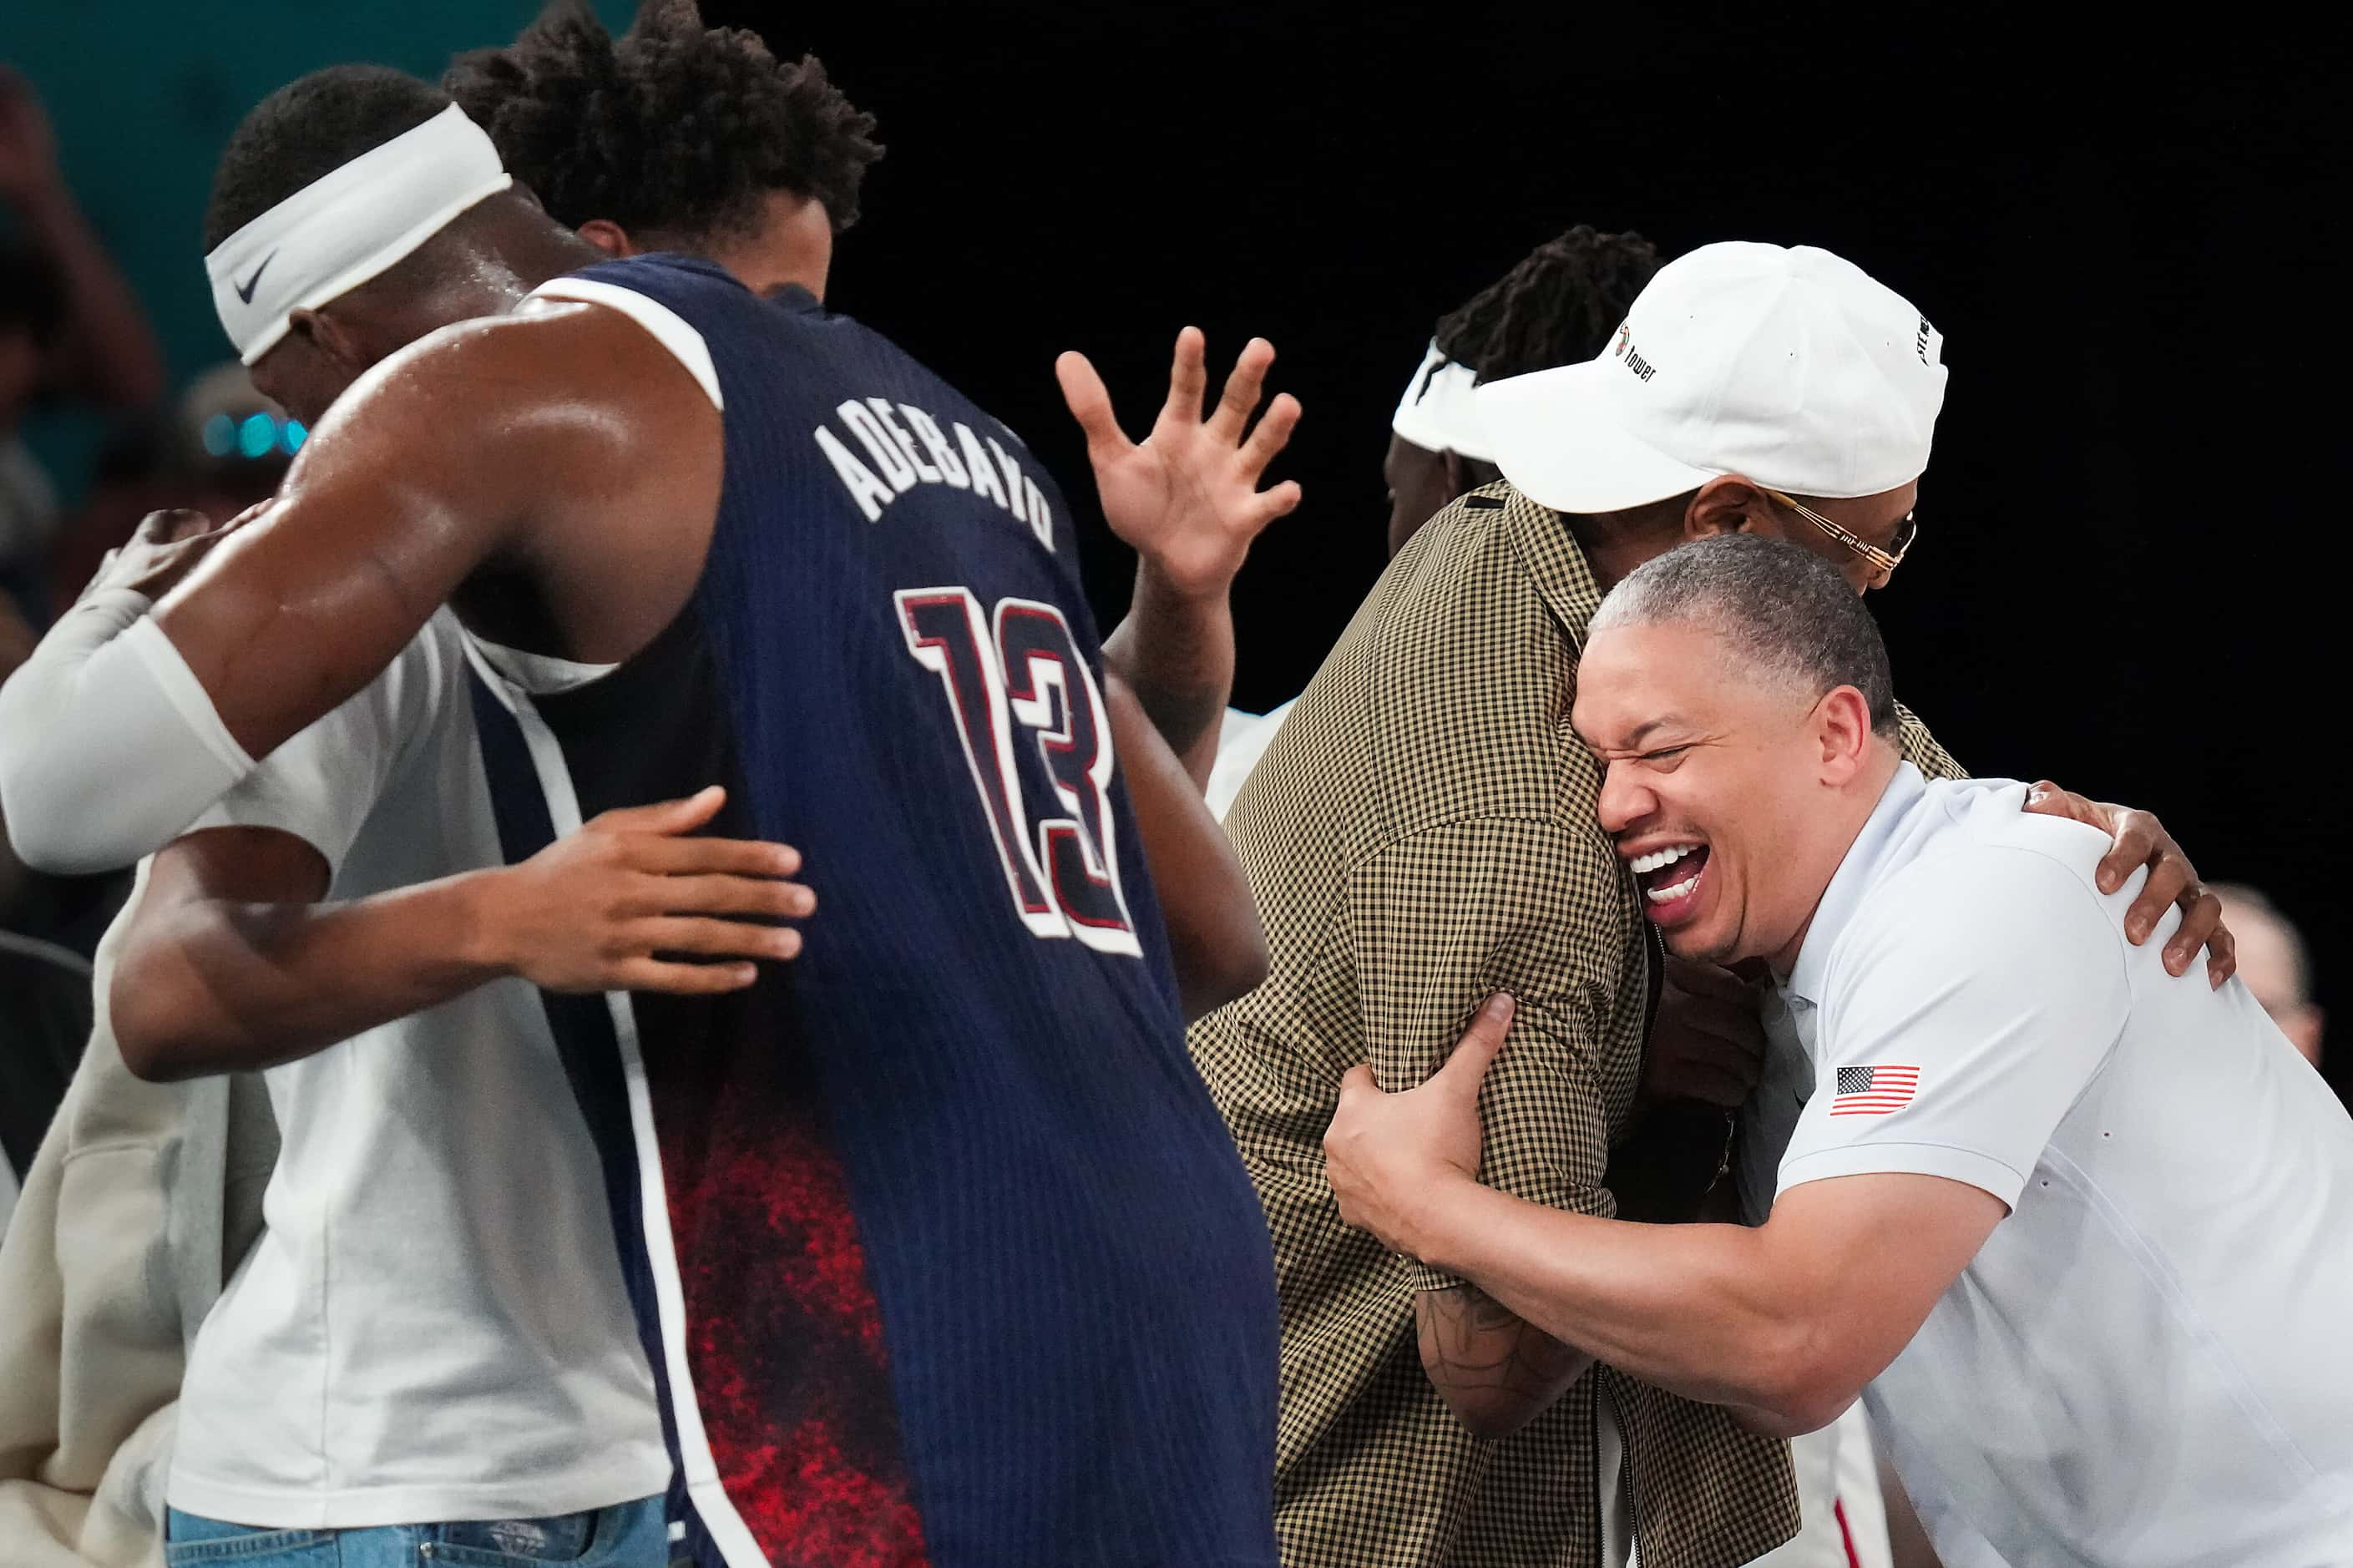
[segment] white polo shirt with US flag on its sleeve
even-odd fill
[[[1904,765],[1784,986],[1779,1191],[2009,1205],[1871,1417],[1946,1568],[2353,1563],[2353,1121],[2245,986],[2165,972],[2177,918],[2125,942],[2139,878],[2101,897],[2106,838],[2024,791]]]

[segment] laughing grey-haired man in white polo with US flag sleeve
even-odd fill
[[[1795,1019],[1772,1217],[1480,1187],[1506,998],[1412,1092],[1351,1074],[1344,1215],[1753,1427],[1861,1394],[1946,1568],[2353,1561],[2353,1123],[2247,989],[2127,942],[2099,833],[1901,763],[1878,629],[1817,558],[1668,553],[1579,676],[1666,946],[1767,963]]]

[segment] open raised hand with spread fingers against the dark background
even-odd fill
[[[1249,417],[1266,386],[1275,348],[1264,337],[1242,346],[1217,407],[1202,419],[1209,384],[1200,327],[1176,334],[1169,398],[1144,443],[1127,440],[1111,393],[1082,353],[1054,360],[1071,414],[1087,433],[1087,461],[1111,532],[1155,558],[1179,591],[1224,591],[1268,523],[1299,506],[1299,483],[1259,490],[1266,464],[1299,424],[1299,398],[1278,396],[1257,428]]]

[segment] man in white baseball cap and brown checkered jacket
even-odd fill
[[[1581,1349],[1351,1231],[1320,1142],[1348,1069],[1428,1078],[1504,989],[1520,1012],[1485,1090],[1485,1180],[1553,1210],[1689,1217],[1725,1121],[1685,1191],[1633,1180],[1659,1125],[1635,1107],[1661,954],[1565,723],[1584,631],[1612,582],[1708,534],[1793,539],[1857,589],[1885,582],[1939,351],[1911,304],[1819,250],[1668,264],[1600,358],[1473,393],[1506,483],[1395,558],[1228,815],[1273,970],[1195,1024],[1193,1057],[1275,1234],[1287,1563],[1588,1568],[1638,1542],[1649,1568],[1729,1566],[1795,1528],[1779,1443],[1614,1368],[1586,1377]],[[1958,772],[1913,720],[1901,749]],[[2106,873],[2148,848],[2118,843]],[[2214,909],[2177,852],[2155,859],[2132,918],[2146,935],[2188,895],[2179,972]],[[1718,1071],[1725,1104],[1755,1083],[1753,1057]]]

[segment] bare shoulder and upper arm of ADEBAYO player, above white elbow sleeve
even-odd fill
[[[447,327],[336,400],[275,504],[155,622],[254,758],[360,690],[492,558],[581,631],[546,652],[621,659],[699,560],[668,572],[682,586],[661,605],[598,603],[576,563],[602,556],[621,584],[656,570],[680,516],[715,513],[718,452],[718,410],[614,311]]]

